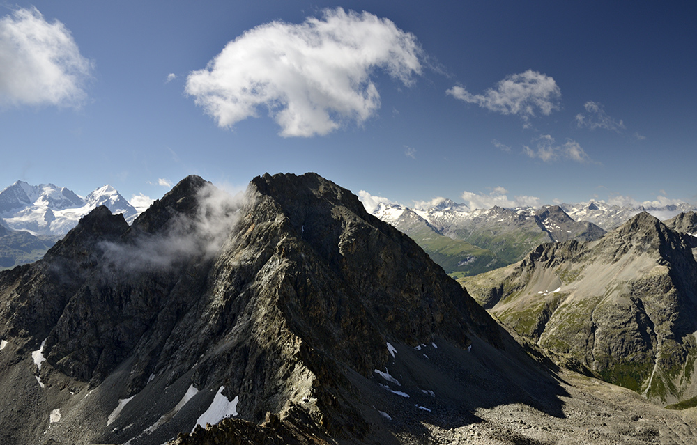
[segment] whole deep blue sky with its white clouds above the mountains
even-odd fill
[[[669,6],[667,6],[669,5]],[[0,188],[697,202],[689,1],[0,6]],[[497,201],[498,200],[498,201]]]

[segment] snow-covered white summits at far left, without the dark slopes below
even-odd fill
[[[123,214],[129,223],[139,214],[111,185],[100,187],[85,198],[66,187],[29,185],[24,181],[0,192],[0,218],[4,225],[32,235],[65,235],[80,218],[100,205],[113,214]]]

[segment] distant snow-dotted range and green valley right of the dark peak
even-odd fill
[[[515,263],[544,242],[597,240],[642,211],[667,219],[689,210],[697,207],[630,208],[590,202],[471,210],[441,198],[427,208],[381,202],[372,213],[412,237],[445,272],[462,277]]]

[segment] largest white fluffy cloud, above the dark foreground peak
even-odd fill
[[[376,68],[408,86],[422,70],[421,58],[415,36],[390,20],[337,8],[322,19],[246,31],[205,69],[190,73],[186,93],[220,127],[257,116],[262,107],[282,136],[328,134],[378,109]]]

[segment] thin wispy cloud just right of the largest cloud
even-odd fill
[[[446,91],[453,97],[500,114],[514,114],[523,119],[523,126],[530,127],[530,118],[536,113],[549,116],[559,109],[561,91],[552,77],[527,70],[506,77],[484,94],[472,94],[462,86]]]

